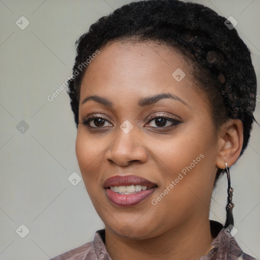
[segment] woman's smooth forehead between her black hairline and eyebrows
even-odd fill
[[[100,49],[88,65],[80,102],[102,95],[118,102],[170,92],[196,102],[190,68],[173,48],[154,42],[112,42]],[[201,94],[201,93],[200,93]]]

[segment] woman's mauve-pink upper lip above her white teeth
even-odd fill
[[[104,183],[104,188],[109,188],[111,186],[129,186],[129,185],[142,185],[148,188],[153,188],[157,186],[155,183],[146,180],[137,175],[116,175],[108,178]]]

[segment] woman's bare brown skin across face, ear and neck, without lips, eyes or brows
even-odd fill
[[[172,73],[180,68],[186,76],[177,82]],[[217,167],[231,166],[243,143],[240,120],[230,119],[215,129],[206,94],[191,78],[184,58],[172,48],[156,43],[112,42],[87,68],[81,84],[76,155],[90,199],[105,223],[106,248],[117,259],[198,259],[208,253],[213,240],[209,207]],[[141,107],[147,96],[171,93]],[[112,107],[89,100],[98,95]],[[105,117],[103,125],[88,128],[82,118]],[[181,123],[158,127],[152,115],[169,116]],[[128,120],[134,128],[125,134],[120,125]],[[157,121],[158,122],[158,121]],[[157,127],[157,128],[156,128]],[[161,192],[193,160],[204,157],[157,205]],[[157,184],[140,204],[118,207],[106,197],[104,182],[115,175],[134,174]]]

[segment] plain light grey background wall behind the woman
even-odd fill
[[[68,177],[80,171],[75,155],[76,126],[63,90],[52,94],[72,74],[75,41],[101,16],[127,0],[0,0],[0,259],[41,260],[92,241],[103,223],[83,181]],[[260,75],[259,0],[194,1],[238,21],[236,29],[252,52]],[[30,24],[21,30],[16,21]],[[258,95],[260,94],[258,86]],[[255,118],[260,122],[260,98]],[[29,128],[20,133],[24,120]],[[231,169],[234,187],[235,238],[260,259],[260,127]],[[226,178],[214,191],[211,219],[224,223]],[[29,234],[21,238],[17,228]]]

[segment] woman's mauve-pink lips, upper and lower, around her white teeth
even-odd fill
[[[146,186],[146,190],[140,190],[135,193],[120,194],[114,192],[110,187],[115,186],[130,186],[130,185],[140,185]],[[113,176],[107,179],[104,183],[104,188],[106,190],[106,196],[114,205],[119,207],[129,207],[135,206],[143,202],[148,198],[157,188],[157,185],[149,180],[141,178],[136,175],[127,176]]]

